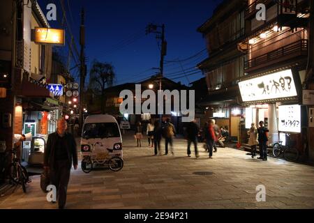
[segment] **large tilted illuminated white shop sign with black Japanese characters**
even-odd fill
[[[291,70],[239,82],[243,102],[297,96]]]

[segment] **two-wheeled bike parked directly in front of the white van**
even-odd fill
[[[113,150],[107,148],[107,151],[112,153]],[[81,168],[86,174],[90,173],[94,168],[94,164],[104,165],[107,164],[112,171],[119,171],[124,167],[124,160],[118,156],[112,156],[109,153],[98,153],[97,155],[91,154],[84,156]]]

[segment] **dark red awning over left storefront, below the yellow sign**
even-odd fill
[[[50,91],[45,86],[39,86],[23,79],[22,95],[31,98],[50,98]]]

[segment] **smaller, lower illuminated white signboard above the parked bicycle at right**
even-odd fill
[[[301,106],[278,106],[278,130],[280,132],[301,132]]]

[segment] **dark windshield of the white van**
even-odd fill
[[[117,123],[87,123],[83,129],[83,139],[120,137]]]

